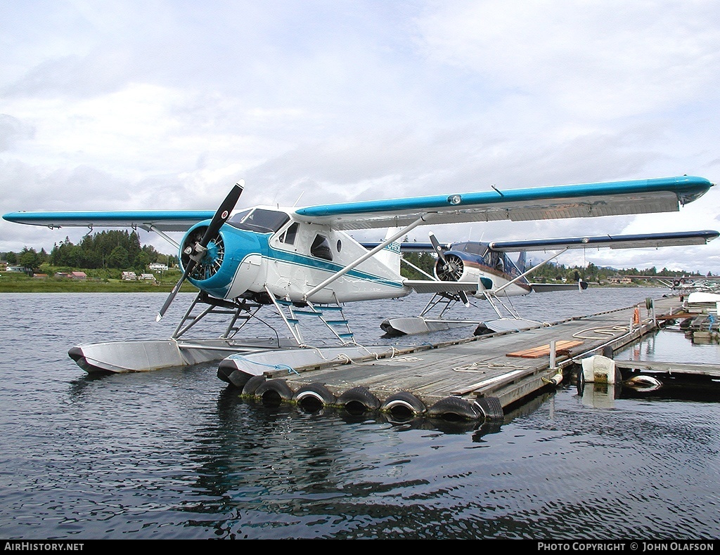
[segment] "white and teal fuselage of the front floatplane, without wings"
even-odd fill
[[[181,244],[186,266],[188,245],[208,222],[193,226]],[[350,235],[328,225],[294,220],[292,211],[255,207],[237,212],[207,246],[202,261],[188,276],[194,286],[220,299],[264,299],[267,293],[292,302],[352,302],[404,297],[410,293],[397,263],[387,256],[369,258],[312,296],[315,286],[367,253]]]

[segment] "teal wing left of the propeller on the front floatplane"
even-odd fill
[[[186,231],[214,210],[136,210],[105,212],[11,212],[4,220],[48,227],[132,227],[143,230]]]

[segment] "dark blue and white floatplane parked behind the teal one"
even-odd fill
[[[533,283],[528,280],[534,271],[571,249],[600,248],[660,248],[680,245],[704,245],[718,237],[714,230],[681,231],[672,233],[642,233],[634,235],[598,235],[571,238],[531,239],[516,241],[493,241],[480,243],[441,244],[433,233],[429,243],[401,243],[405,252],[433,252],[437,259],[433,275],[410,264],[413,269],[433,281],[472,281],[477,284],[474,292],[436,292],[418,316],[393,317],[384,320],[380,327],[388,336],[414,335],[448,330],[454,326],[477,326],[474,335],[501,331],[520,331],[544,325],[543,322],[527,320],[518,314],[511,303],[512,297],[534,292],[584,290],[588,283],[577,280],[575,284]],[[370,248],[375,243],[364,243]],[[526,254],[531,251],[551,251],[540,263],[528,268]],[[509,253],[518,253],[517,261]],[[672,288],[672,283],[667,284]],[[447,315],[459,304],[469,307],[469,299],[487,301],[498,316],[493,320],[451,320]]]

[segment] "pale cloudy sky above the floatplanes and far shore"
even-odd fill
[[[719,185],[679,212],[431,231],[450,242],[720,230],[716,0],[0,9],[0,214],[214,210],[239,179],[249,207],[687,174]],[[87,231],[1,220],[0,252]],[[718,275],[720,239],[557,261]]]

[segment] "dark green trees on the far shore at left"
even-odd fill
[[[17,264],[31,270],[37,270],[42,264],[76,269],[113,268],[143,272],[148,265],[161,260],[168,266],[177,263],[176,256],[158,253],[153,245],[140,245],[140,237],[135,231],[110,230],[85,235],[74,245],[69,238],[55,243],[53,250],[47,253],[34,248],[24,247],[19,253],[9,252],[5,260],[11,265]]]

